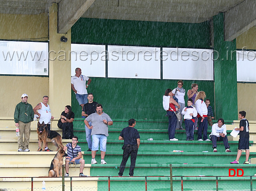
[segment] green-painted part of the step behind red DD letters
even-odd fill
[[[120,164],[106,164],[98,166],[92,165],[90,168],[91,176],[117,176]],[[124,176],[129,176],[130,165],[126,165]],[[173,176],[228,176],[229,169],[235,171],[243,169],[244,176],[253,176],[256,172],[255,164],[173,164]],[[239,171],[241,175],[242,171]],[[231,171],[231,175],[234,171]],[[136,164],[134,169],[134,176],[170,176],[170,165],[167,164]]]

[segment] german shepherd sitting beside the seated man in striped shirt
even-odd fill
[[[52,159],[51,167],[49,169],[48,175],[49,177],[62,177],[62,164],[63,164],[63,157],[68,156],[66,152],[61,148],[54,158]]]

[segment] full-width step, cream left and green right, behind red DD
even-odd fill
[[[83,173],[87,176],[118,176],[120,164],[85,164]],[[0,165],[1,177],[39,177],[48,176],[48,165]],[[126,165],[124,176],[129,176],[130,165]],[[173,176],[228,176],[229,169],[242,169],[244,176],[253,176],[256,172],[255,164],[172,164]],[[77,177],[80,165],[71,165],[70,177]],[[234,174],[234,171],[231,171]],[[241,175],[241,170],[239,171]],[[170,165],[168,164],[136,164],[135,176],[168,176]]]

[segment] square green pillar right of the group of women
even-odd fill
[[[214,24],[214,77],[215,104],[217,118],[237,120],[237,78],[236,78],[236,40],[224,41],[224,15],[213,17]],[[228,55],[228,57],[227,57]]]

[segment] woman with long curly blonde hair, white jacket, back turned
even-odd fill
[[[206,95],[204,91],[198,92],[198,95],[196,95],[195,102],[196,102],[196,110],[198,112],[198,141],[202,141],[202,130],[203,130],[203,138],[204,141],[210,141],[210,139],[207,138],[207,129],[208,129],[208,121],[207,121],[207,106],[204,102],[204,99],[206,98]]]

